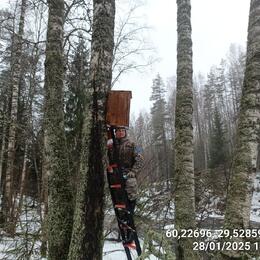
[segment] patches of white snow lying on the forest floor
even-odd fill
[[[150,194],[151,193],[151,194]],[[147,201],[147,208],[152,207],[152,197],[156,195],[156,192],[151,189],[150,193],[144,193],[144,197],[141,198],[141,201]],[[146,198],[145,198],[146,197]],[[161,201],[158,201],[159,196],[157,197],[158,204],[161,204]],[[147,199],[149,198],[149,199]],[[27,199],[26,203],[29,205],[32,203],[30,199]],[[215,206],[218,203],[218,198],[212,198],[210,202],[210,217],[213,218],[223,218],[223,215],[219,213],[218,210],[215,210]],[[168,204],[168,203],[166,203]],[[113,211],[109,210],[109,214],[113,215]],[[159,213],[150,212],[150,218],[154,219],[163,219],[167,216],[166,219],[172,219],[174,215],[174,205],[171,203],[165,206],[165,210],[161,210]],[[148,217],[148,216],[147,216]],[[200,216],[198,216],[200,217]],[[257,174],[254,181],[254,192],[252,199],[252,208],[250,219],[255,222],[260,223],[260,173]],[[172,229],[173,223],[165,223],[164,229]],[[31,260],[44,260],[40,257],[40,241],[39,241],[39,232],[40,232],[40,218],[37,213],[36,208],[30,208],[30,210],[24,212],[20,218],[20,222],[17,225],[17,236],[15,238],[10,238],[5,235],[0,229],[0,259],[5,260],[14,260],[14,259],[28,259],[24,254],[31,252]],[[28,235],[29,234],[29,235]],[[141,246],[143,246],[143,241],[141,240]],[[18,258],[19,257],[19,258]],[[137,259],[137,255],[133,252],[133,260]],[[111,242],[105,241],[103,249],[103,260],[126,260],[126,255],[122,243],[120,242]],[[150,255],[150,260],[156,260],[157,257]]]

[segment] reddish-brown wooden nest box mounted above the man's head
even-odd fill
[[[112,90],[108,94],[106,123],[129,127],[131,91]]]

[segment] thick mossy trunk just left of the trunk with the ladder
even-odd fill
[[[67,259],[73,220],[63,115],[64,1],[48,0],[45,60],[44,158],[48,173],[48,259]]]

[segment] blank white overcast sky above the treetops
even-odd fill
[[[15,1],[15,0],[9,0]],[[126,1],[126,0],[118,0]],[[176,74],[176,0],[143,0],[142,23],[150,26],[149,41],[160,61],[146,73],[124,75],[115,89],[132,91],[131,111],[149,110],[152,80],[157,73],[166,81]],[[8,0],[0,0],[0,7]],[[191,0],[194,73],[206,75],[225,58],[231,43],[246,46],[250,0]]]

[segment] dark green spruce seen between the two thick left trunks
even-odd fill
[[[77,187],[81,154],[84,110],[89,103],[87,81],[89,76],[89,50],[79,35],[79,42],[69,64],[65,92],[65,131],[69,152],[72,182]]]

